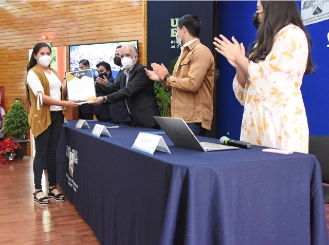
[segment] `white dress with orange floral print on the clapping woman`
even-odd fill
[[[300,87],[308,45],[299,27],[282,28],[266,59],[250,62],[245,88],[233,80],[244,105],[240,140],[254,145],[308,153],[308,124]]]

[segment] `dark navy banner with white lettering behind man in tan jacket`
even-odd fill
[[[214,1],[148,1],[148,67],[153,62],[167,67],[180,55],[176,27],[185,14],[200,18],[199,39],[213,51],[214,6]]]

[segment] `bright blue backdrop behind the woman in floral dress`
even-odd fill
[[[297,1],[297,5],[301,10],[301,1]],[[217,33],[229,39],[234,36],[248,48],[257,40],[257,30],[252,24],[252,15],[256,10],[257,1],[218,1]],[[311,57],[316,66],[316,73],[304,76],[301,86],[309,135],[329,135],[328,26],[329,20],[306,26],[312,39]],[[220,54],[216,63],[221,74],[217,80],[216,136],[220,138],[229,133],[230,138],[239,139],[244,107],[236,100],[232,89],[235,69]]]

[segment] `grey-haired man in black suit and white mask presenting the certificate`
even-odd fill
[[[90,104],[124,101],[132,124],[139,127],[160,128],[153,116],[160,116],[153,81],[145,74],[145,66],[138,63],[138,51],[133,45],[124,45],[120,52],[124,73],[120,82],[105,86],[96,82],[95,88],[107,96],[97,97]]]

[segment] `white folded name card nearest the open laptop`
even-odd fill
[[[156,149],[170,154],[170,150],[162,136],[147,133],[139,133],[132,148],[151,155]]]

